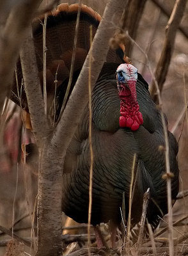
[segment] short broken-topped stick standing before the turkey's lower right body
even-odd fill
[[[147,191],[145,192],[145,194],[143,196],[143,212],[141,215],[140,229],[139,229],[139,235],[138,235],[138,239],[137,239],[137,252],[136,252],[137,255],[139,255],[139,253],[140,253],[141,244],[142,244],[142,240],[143,240],[143,233],[144,233],[145,220],[146,220],[146,211],[148,208],[149,198],[150,198],[150,188],[147,189]]]

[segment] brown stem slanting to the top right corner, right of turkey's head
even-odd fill
[[[171,61],[171,55],[175,43],[176,30],[178,29],[180,21],[182,20],[186,3],[187,0],[176,0],[173,12],[171,13],[166,26],[166,40],[164,42],[160,60],[157,63],[157,67],[155,69],[155,77],[157,79],[157,83],[159,84],[160,92],[162,92],[163,84],[166,80],[166,75],[168,73],[169,63]],[[152,81],[150,92],[154,102],[157,102],[158,99],[154,81]]]

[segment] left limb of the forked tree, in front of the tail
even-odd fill
[[[31,115],[31,124],[33,131],[35,132],[36,139],[41,142],[42,138],[45,138],[49,132],[49,125],[47,124],[45,115],[40,81],[37,76],[38,71],[35,49],[31,35],[32,31],[30,27],[29,36],[27,36],[22,45],[22,49],[20,50],[20,61],[22,65],[22,74],[24,77],[24,85],[26,88],[29,113]]]

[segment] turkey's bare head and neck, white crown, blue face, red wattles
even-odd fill
[[[143,124],[143,115],[139,112],[136,98],[137,68],[130,64],[121,64],[116,72],[120,97],[120,127],[129,127],[136,131]]]

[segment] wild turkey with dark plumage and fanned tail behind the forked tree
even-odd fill
[[[47,18],[47,93],[49,109],[54,98],[54,80],[57,80],[56,120],[60,112],[70,74],[74,45],[75,22],[78,6],[61,4]],[[41,18],[42,19],[42,18]],[[90,8],[82,6],[77,38],[74,76],[71,88],[79,76],[90,48],[90,25],[93,35],[100,17]],[[36,20],[33,35],[39,76],[42,77],[42,26]],[[121,64],[124,63],[124,64]],[[56,72],[58,75],[56,77]],[[22,79],[20,62],[17,64],[19,84]],[[42,81],[42,79],[41,79]],[[17,102],[16,87],[12,99]],[[17,102],[18,103],[18,102]],[[79,103],[79,102],[78,102]],[[22,107],[28,111],[22,92]],[[125,63],[123,51],[110,49],[92,93],[93,196],[91,223],[97,225],[111,220],[115,226],[121,222],[120,207],[125,193],[125,216],[128,218],[130,180],[133,159],[135,189],[132,200],[131,225],[141,218],[143,195],[150,188],[150,202],[146,218],[153,229],[159,216],[168,212],[164,150],[164,129],[161,113],[153,103],[148,84],[137,69]],[[50,113],[50,111],[49,111]],[[88,141],[88,107],[70,143],[64,163],[62,211],[79,223],[88,222],[90,145]],[[166,121],[166,125],[168,125]],[[169,163],[172,179],[172,198],[178,193],[178,145],[168,132]]]

